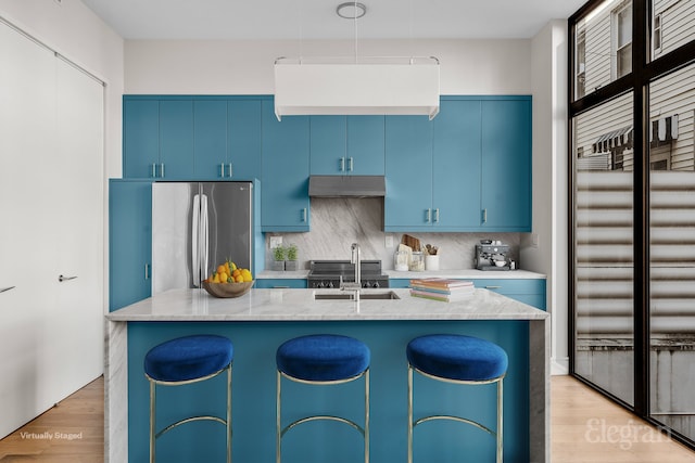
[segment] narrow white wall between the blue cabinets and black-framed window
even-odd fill
[[[521,242],[525,269],[547,274],[554,373],[566,373],[567,282],[567,26],[548,23],[533,39],[533,233]],[[548,194],[549,193],[549,194]]]

